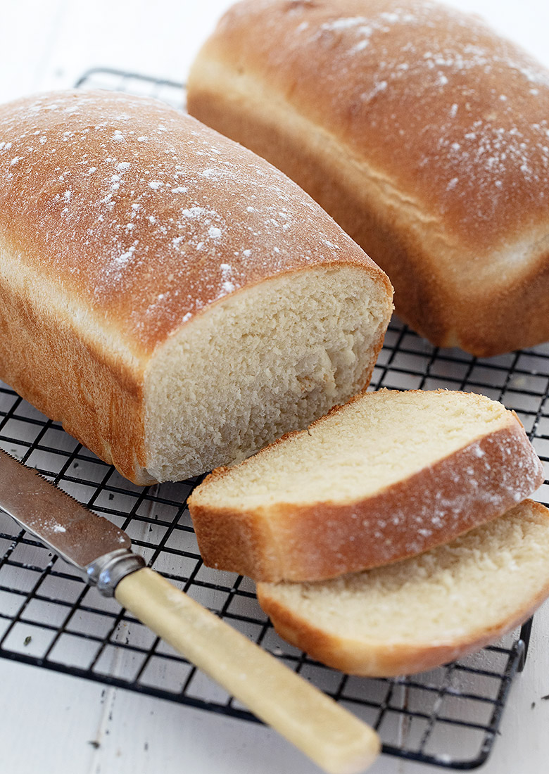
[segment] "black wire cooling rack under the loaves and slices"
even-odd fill
[[[80,87],[146,94],[182,108],[181,84],[93,70]],[[549,461],[549,344],[479,360],[440,350],[393,320],[372,389],[462,389],[515,409]],[[246,578],[205,567],[186,508],[197,481],[139,488],[0,382],[0,446],[125,529],[156,570],[372,724],[383,752],[448,769],[489,755],[530,625],[496,646],[413,677],[371,680],[321,666],[283,642]],[[547,481],[537,492],[549,499]],[[0,512],[0,656],[256,721],[175,651],[101,597],[62,560]]]

